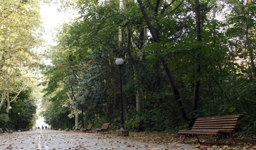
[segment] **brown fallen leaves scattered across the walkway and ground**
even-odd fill
[[[218,146],[214,145],[216,140],[214,139],[201,139],[202,143],[198,143],[194,138],[186,139],[186,144],[190,147],[186,148],[186,144],[182,143],[183,137],[174,136],[163,136],[155,134],[140,134],[140,133],[130,133],[130,136],[116,136],[116,133],[100,134],[100,133],[80,133],[80,132],[62,132],[55,131],[54,134],[47,134],[47,132],[42,132],[44,139],[47,141],[46,145],[55,144],[54,141],[58,140],[59,143],[72,144],[72,146],[67,146],[66,149],[120,149],[120,144],[124,145],[126,148],[134,149],[146,149],[146,150],[158,150],[158,149],[177,149],[180,147],[184,150],[199,149],[199,150],[255,150],[255,144],[251,143],[237,143],[221,140]],[[58,136],[58,133],[61,136]],[[5,145],[5,149],[26,149],[24,145],[28,145],[18,137],[20,132],[14,132],[12,135],[2,135],[2,140],[0,141],[0,146]],[[38,138],[35,138],[35,134],[38,132],[26,131],[23,132],[22,137],[25,139],[30,139],[30,144],[35,146],[38,143]],[[41,138],[42,140],[43,138]],[[140,145],[142,142],[143,144]],[[15,146],[12,146],[15,145]],[[18,146],[17,146],[18,145]],[[19,147],[20,145],[20,147]],[[140,147],[138,147],[140,145]],[[157,147],[157,145],[162,145],[164,147]],[[42,145],[43,146],[43,145]],[[112,148],[103,148],[106,146],[112,146]],[[37,148],[35,148],[37,149]],[[63,149],[60,147],[52,149]]]

